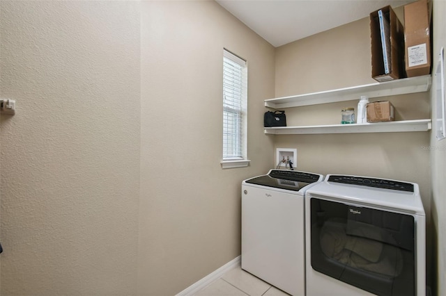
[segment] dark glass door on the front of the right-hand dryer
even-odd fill
[[[310,201],[314,270],[377,295],[415,295],[413,216]]]

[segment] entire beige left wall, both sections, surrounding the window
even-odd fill
[[[270,44],[214,1],[1,1],[0,26],[2,295],[174,295],[240,255],[240,183],[272,165]],[[224,47],[249,67],[232,170]]]

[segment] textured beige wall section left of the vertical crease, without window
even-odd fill
[[[1,294],[134,295],[139,3],[0,6]]]

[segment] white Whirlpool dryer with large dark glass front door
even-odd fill
[[[307,190],[307,295],[426,293],[426,219],[416,183],[327,175]]]

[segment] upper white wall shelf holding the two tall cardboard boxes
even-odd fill
[[[426,92],[431,87],[431,75],[416,76],[412,78],[397,79],[386,82],[377,82],[351,88],[339,88],[310,94],[298,94],[291,97],[266,99],[265,106],[269,108],[290,108],[299,106],[334,103],[337,101],[358,100],[361,96],[387,97],[398,94],[412,94]]]

